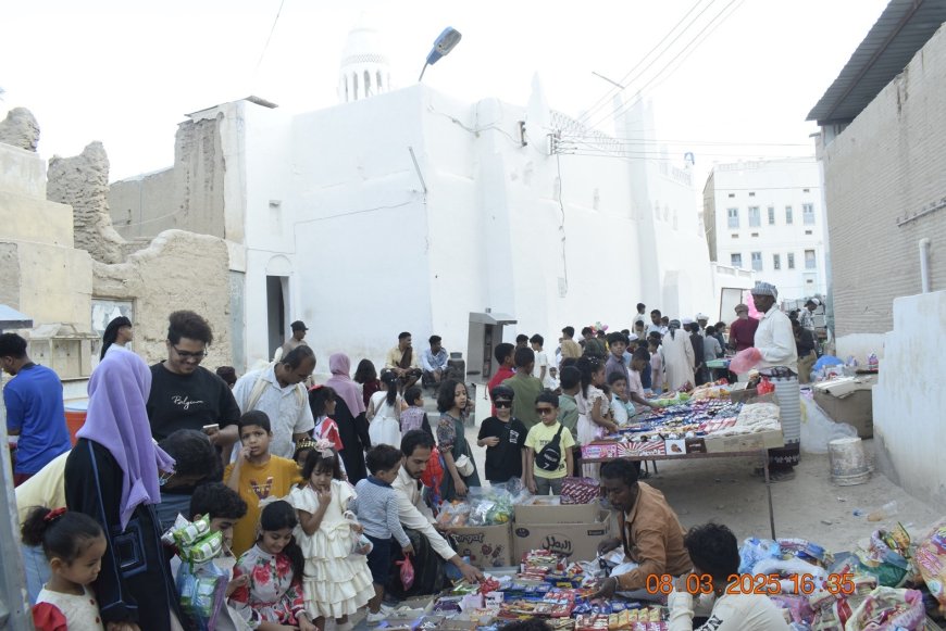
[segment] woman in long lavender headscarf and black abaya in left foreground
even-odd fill
[[[92,583],[105,627],[166,631],[175,628],[172,611],[183,617],[154,505],[159,478],[173,475],[174,460],[151,440],[150,390],[151,370],[138,355],[117,348],[105,354],[66,459],[65,501],[98,521],[108,540]]]

